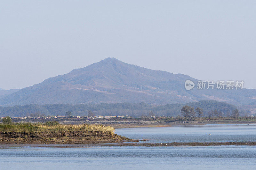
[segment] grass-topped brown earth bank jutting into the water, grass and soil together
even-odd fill
[[[0,144],[90,144],[135,142],[116,135],[111,126],[101,124],[67,125],[59,122],[0,123]]]

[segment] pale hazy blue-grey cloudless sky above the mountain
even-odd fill
[[[0,1],[0,88],[107,57],[256,89],[256,1]]]

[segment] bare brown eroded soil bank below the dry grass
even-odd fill
[[[0,133],[0,144],[97,144],[137,141],[140,140],[113,135],[108,131]]]

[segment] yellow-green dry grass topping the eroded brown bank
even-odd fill
[[[59,123],[10,123],[0,124],[0,132],[46,132],[46,131],[108,131],[114,134],[115,129],[111,126],[97,124],[65,125]]]

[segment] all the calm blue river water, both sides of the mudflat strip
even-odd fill
[[[143,142],[255,141],[255,125],[116,129]],[[211,133],[212,135],[208,135]],[[143,134],[143,137],[142,137]],[[207,135],[205,135],[207,134]],[[255,169],[256,146],[0,146],[0,169]],[[56,146],[56,145],[55,145]],[[84,146],[84,145],[83,145]]]

